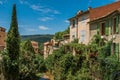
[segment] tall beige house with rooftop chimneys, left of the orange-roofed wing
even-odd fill
[[[89,42],[89,21],[90,21],[90,10],[83,12],[78,11],[77,14],[70,18],[70,42],[74,39],[78,39],[79,43],[87,44]]]

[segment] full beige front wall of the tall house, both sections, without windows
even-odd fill
[[[72,27],[73,25],[73,20],[76,20],[76,27]],[[74,40],[74,38],[72,38],[73,34],[75,34],[75,38],[79,39],[79,43],[83,43],[83,44],[88,44],[89,42],[89,13],[87,14],[83,14],[81,16],[79,16],[78,18],[73,18],[70,20],[70,42]],[[83,37],[84,36],[84,41]]]

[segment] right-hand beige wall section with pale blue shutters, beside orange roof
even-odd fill
[[[89,42],[89,14],[84,14],[78,18],[78,39],[79,43],[88,44]],[[83,37],[84,35],[84,37]]]

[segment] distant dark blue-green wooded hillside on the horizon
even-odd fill
[[[53,35],[50,34],[43,34],[43,35],[22,35],[21,36],[22,40],[34,40],[39,43],[44,43],[46,41],[50,41],[53,38]]]

